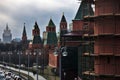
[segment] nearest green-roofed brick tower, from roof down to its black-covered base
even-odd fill
[[[68,52],[66,57],[62,57],[62,73],[66,73],[65,80],[86,79],[83,72],[89,70],[90,61],[88,57],[83,55],[90,49],[93,52],[93,43],[92,47],[89,47],[91,43],[89,43],[90,40],[87,36],[94,33],[94,24],[93,21],[84,20],[84,17],[93,15],[91,3],[82,0],[73,20],[73,30],[61,36],[63,38],[62,44],[65,44]],[[86,61],[88,62],[86,63]],[[93,60],[91,60],[91,65],[93,69]],[[64,74],[62,74],[62,77],[64,78]]]

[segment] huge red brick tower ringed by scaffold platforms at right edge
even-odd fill
[[[95,80],[120,80],[120,1],[95,0]]]

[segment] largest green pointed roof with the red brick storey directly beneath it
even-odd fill
[[[94,15],[91,3],[88,3],[88,0],[82,0],[75,19],[73,20],[73,31],[83,31],[85,29],[93,30],[93,24],[90,22],[84,21],[85,16]],[[89,28],[88,28],[88,25]]]

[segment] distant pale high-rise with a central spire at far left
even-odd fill
[[[6,25],[6,29],[3,32],[3,43],[11,43],[11,41],[12,41],[11,30],[8,28],[8,25]]]

